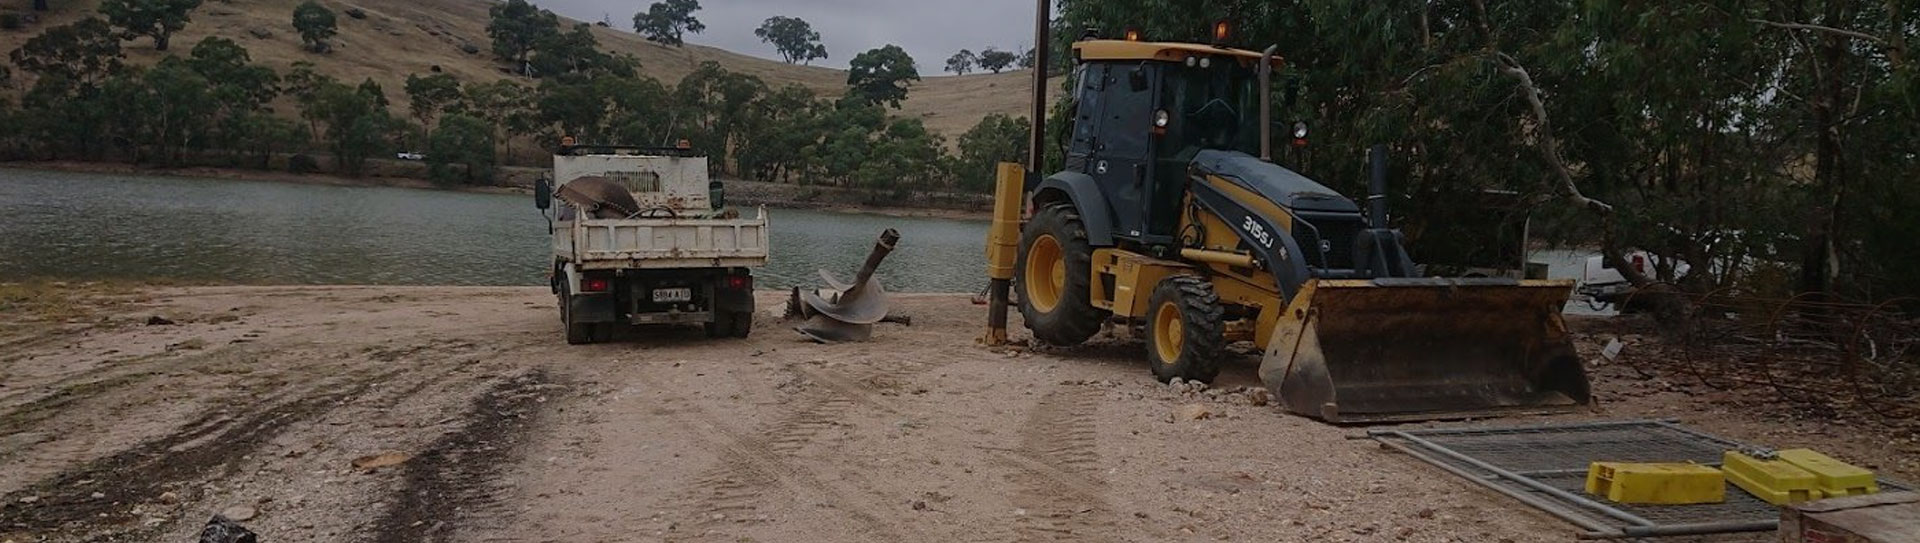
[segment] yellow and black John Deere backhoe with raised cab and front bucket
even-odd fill
[[[1066,171],[1000,165],[989,232],[989,274],[1012,284],[1033,338],[1075,345],[1133,324],[1154,376],[1202,382],[1231,342],[1252,342],[1281,405],[1327,422],[1590,401],[1559,315],[1571,282],[1417,278],[1386,226],[1382,150],[1365,213],[1265,159],[1273,48],[1129,33],[1073,56]],[[989,340],[1004,338],[1004,311],[991,320]]]

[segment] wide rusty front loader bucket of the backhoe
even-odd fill
[[[1311,280],[1260,380],[1336,424],[1572,411],[1590,395],[1561,319],[1571,294],[1569,280]]]

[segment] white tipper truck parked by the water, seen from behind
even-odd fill
[[[566,342],[607,342],[636,324],[747,338],[753,269],[768,259],[766,209],[743,219],[724,200],[707,157],[689,150],[563,146],[534,201],[553,232]]]

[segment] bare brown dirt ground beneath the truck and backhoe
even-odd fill
[[[1250,355],[1192,393],[1156,384],[1125,338],[975,347],[983,311],[966,295],[900,295],[912,326],[852,345],[803,342],[770,313],[780,294],[760,305],[751,340],[666,328],[574,347],[540,288],[0,303],[0,541],[192,541],[215,512],[261,541],[1574,533],[1348,439],[1359,430],[1252,405],[1238,391],[1258,386]],[[1622,361],[1653,349],[1613,324],[1578,328],[1588,353],[1617,336]],[[1594,366],[1594,413],[1521,420],[1678,416],[1920,480],[1910,428],[1797,416],[1622,361]]]

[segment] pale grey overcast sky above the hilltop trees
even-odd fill
[[[632,31],[634,13],[653,0],[532,0],[564,17],[601,21]],[[852,56],[885,44],[906,48],[920,75],[939,75],[947,56],[987,46],[1025,52],[1033,42],[1033,0],[701,0],[693,13],[707,31],[687,42],[780,59],[753,29],[774,15],[801,17],[814,25],[828,59],[814,65],[847,67]]]

